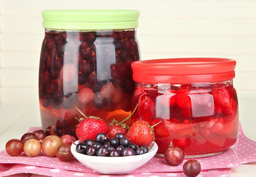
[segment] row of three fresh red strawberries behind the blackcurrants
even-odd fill
[[[138,105],[137,105],[138,106]],[[117,134],[123,134],[126,139],[131,143],[135,143],[137,146],[149,147],[154,141],[154,127],[161,123],[159,121],[154,125],[148,124],[146,121],[136,121],[129,127],[124,121],[128,120],[130,116],[135,112],[137,106],[132,113],[123,121],[119,122],[115,119],[106,123],[99,117],[89,116],[87,117],[81,110],[78,111],[84,116],[79,119],[79,124],[76,126],[76,136],[80,141],[87,139],[96,140],[97,134],[107,134],[109,138],[116,138]]]

